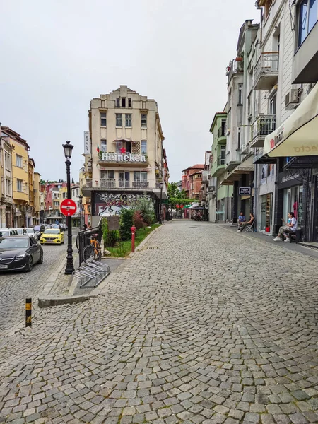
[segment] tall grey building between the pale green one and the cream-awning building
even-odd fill
[[[242,211],[245,216],[254,210],[254,149],[250,147],[252,105],[255,105],[252,85],[247,70],[249,60],[254,57],[259,24],[246,20],[240,28],[237,52],[227,68],[228,119],[225,155],[225,174],[221,186],[233,187],[231,219],[237,223]],[[242,189],[244,187],[244,189]],[[244,194],[242,194],[244,193]]]

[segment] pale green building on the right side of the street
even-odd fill
[[[233,186],[230,184],[221,185],[225,179],[225,163],[226,163],[226,122],[228,113],[216,112],[210,127],[210,132],[213,136],[213,143],[211,147],[211,162],[210,162],[210,175],[216,182],[216,187],[213,190],[215,197],[211,199],[209,216],[210,220],[219,223],[226,223],[231,219],[232,210],[232,194]],[[213,210],[215,208],[215,210]]]

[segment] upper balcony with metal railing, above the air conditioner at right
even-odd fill
[[[278,81],[278,52],[261,53],[254,70],[253,90],[271,90]]]

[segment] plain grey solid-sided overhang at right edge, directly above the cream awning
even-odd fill
[[[318,81],[318,20],[293,58],[292,83],[317,83]]]

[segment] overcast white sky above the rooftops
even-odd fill
[[[225,66],[254,0],[2,0],[0,122],[31,147],[43,179],[82,166],[90,99],[127,85],[158,102],[170,182],[204,162]]]

